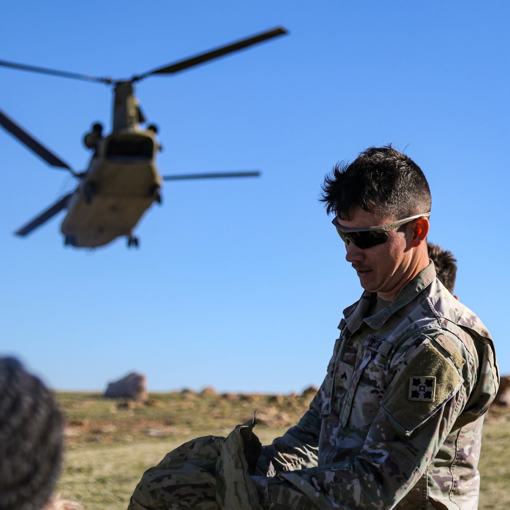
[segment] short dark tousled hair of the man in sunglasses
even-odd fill
[[[324,178],[320,201],[328,214],[348,220],[356,207],[403,219],[429,212],[432,199],[420,167],[386,145],[368,148],[350,164],[338,163]]]

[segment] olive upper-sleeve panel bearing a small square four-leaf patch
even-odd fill
[[[381,406],[392,423],[410,436],[453,396],[461,387],[462,378],[430,342],[420,346],[404,363]]]

